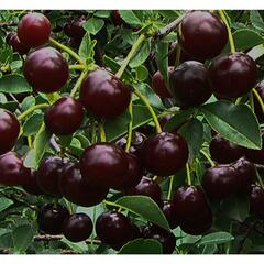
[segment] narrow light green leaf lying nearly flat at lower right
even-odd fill
[[[209,244],[224,244],[232,241],[234,237],[228,232],[215,232],[202,237],[202,239],[197,243],[198,246],[209,245]]]

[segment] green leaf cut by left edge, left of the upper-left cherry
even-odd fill
[[[32,88],[22,75],[4,75],[0,78],[0,92],[21,94],[30,91]]]

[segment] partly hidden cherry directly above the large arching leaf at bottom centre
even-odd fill
[[[130,196],[148,196],[151,197],[157,205],[162,205],[162,189],[157,183],[148,177],[143,177],[141,182],[132,188],[128,188],[125,190],[125,195]]]

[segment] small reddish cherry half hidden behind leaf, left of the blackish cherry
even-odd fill
[[[168,67],[168,76],[173,73],[174,67]],[[160,70],[157,70],[152,76],[152,88],[153,90],[161,97],[161,98],[172,98],[172,94],[169,92],[165,80],[163,78],[163,75]]]

